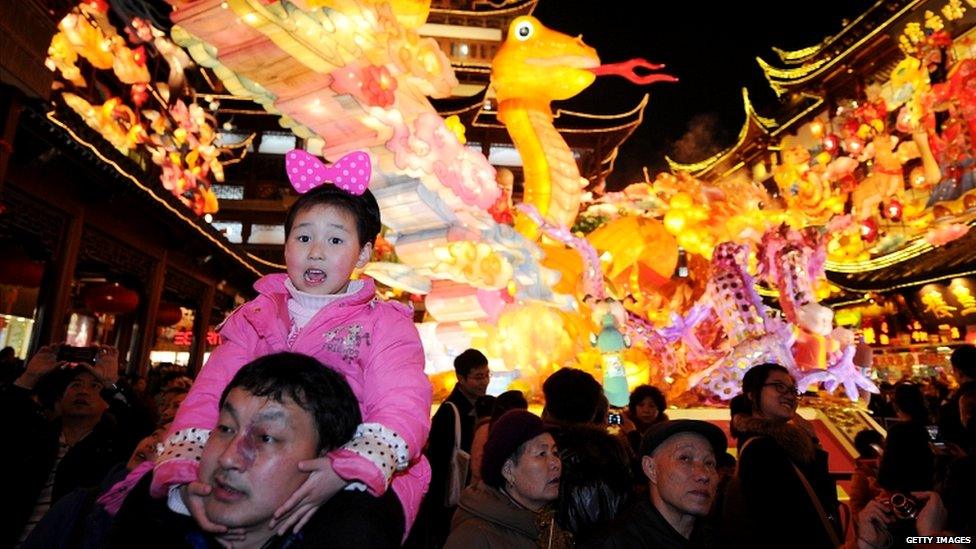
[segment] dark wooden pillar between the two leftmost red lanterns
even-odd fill
[[[65,316],[71,307],[71,285],[74,281],[81,237],[85,231],[84,210],[72,216],[61,239],[61,249],[54,264],[54,276],[45,277],[48,287],[41,295],[49,295],[42,305],[41,326],[35,344],[60,343],[67,335]],[[36,349],[36,346],[35,346]]]

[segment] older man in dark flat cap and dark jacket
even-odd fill
[[[724,454],[726,446],[722,430],[705,421],[678,419],[651,427],[641,445],[650,497],[638,502],[608,535],[580,546],[707,547],[700,519],[715,500],[716,456]]]

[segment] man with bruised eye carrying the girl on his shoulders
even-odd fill
[[[297,534],[269,527],[305,481],[299,462],[342,446],[361,422],[359,405],[339,374],[295,353],[261,357],[242,368],[220,399],[220,416],[200,459],[206,517],[196,521],[173,502],[148,495],[149,475],[123,504],[110,547],[398,547],[399,534],[363,509],[372,496],[345,491]],[[393,491],[386,496],[399,505]],[[215,530],[219,530],[215,532]]]

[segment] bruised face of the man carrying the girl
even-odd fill
[[[200,480],[213,487],[207,518],[229,528],[268,529],[275,510],[308,478],[298,462],[318,457],[312,414],[235,388],[200,458]]]

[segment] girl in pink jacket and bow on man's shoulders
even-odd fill
[[[169,492],[171,508],[180,510],[183,503],[204,528],[226,531],[206,519],[202,497],[212,488],[196,482],[217,402],[242,366],[262,355],[292,351],[313,356],[346,378],[363,424],[341,449],[299,464],[310,473],[308,480],[270,526],[279,533],[297,531],[340,490],[366,490],[379,498],[392,485],[403,515],[394,522],[405,533],[430,481],[420,451],[430,430],[432,389],[412,311],[378,300],[372,279],[350,280],[369,261],[381,229],[379,205],[365,188],[370,159],[353,153],[326,167],[294,150],[285,160],[292,185],[303,193],[285,221],[287,273],[258,280],[254,288],[260,295],[224,321],[223,342],[170,428],[153,495]],[[387,509],[388,500],[377,505]]]

